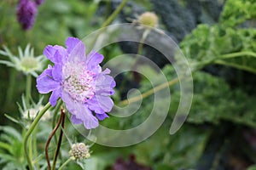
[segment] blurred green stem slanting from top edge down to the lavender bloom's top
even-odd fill
[[[98,39],[98,37],[102,34],[103,31],[105,31],[105,27],[110,25],[111,22],[117,17],[117,15],[119,14],[119,12],[122,10],[122,8],[125,7],[125,4],[128,2],[128,0],[123,0],[122,3],[119,4],[119,7],[116,8],[113,11],[113,14],[111,14],[108,19],[102,24],[101,28],[102,30],[99,31],[99,33],[96,35],[96,37],[93,39],[93,41],[91,42],[91,47],[88,47],[89,51],[92,49],[92,47],[95,45],[96,40]]]

